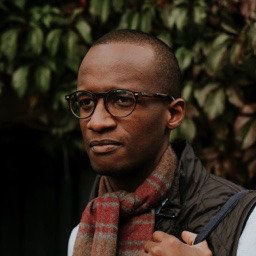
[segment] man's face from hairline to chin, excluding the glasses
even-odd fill
[[[154,53],[149,46],[129,43],[96,45],[84,58],[78,90],[92,93],[113,89],[161,92],[154,77]],[[98,100],[91,117],[80,119],[85,149],[93,169],[109,176],[152,168],[168,146],[168,106],[142,98],[127,117],[109,114]]]

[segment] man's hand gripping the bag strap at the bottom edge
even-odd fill
[[[212,256],[206,241],[193,245],[196,234],[183,231],[181,237],[185,243],[175,236],[156,231],[152,241],[145,243],[140,256]]]

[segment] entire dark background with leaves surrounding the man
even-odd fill
[[[172,47],[186,138],[209,172],[256,188],[256,0],[1,0],[0,255],[66,255],[94,180],[64,95],[118,28]]]

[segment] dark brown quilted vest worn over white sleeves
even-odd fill
[[[172,147],[180,160],[168,197],[156,215],[155,230],[180,238],[183,230],[199,233],[224,203],[244,188],[207,172],[188,143]],[[236,255],[240,235],[255,204],[256,192],[249,191],[213,230],[207,239],[213,255]]]

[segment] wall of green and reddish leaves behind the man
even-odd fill
[[[65,139],[78,126],[64,95],[75,89],[90,44],[112,29],[151,33],[173,48],[183,72],[183,97],[189,102],[186,119],[171,140],[187,138],[197,145],[208,169],[245,183],[256,176],[256,12],[251,1],[53,5],[3,0],[0,97],[12,90],[17,98],[10,101],[27,108],[17,121],[36,122]]]

